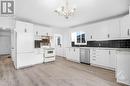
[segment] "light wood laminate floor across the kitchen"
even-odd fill
[[[0,58],[0,86],[125,86],[113,71],[57,57],[55,62],[15,70],[9,58]]]

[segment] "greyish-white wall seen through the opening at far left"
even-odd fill
[[[0,30],[0,54],[11,53],[11,32]]]

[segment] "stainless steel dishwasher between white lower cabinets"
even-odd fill
[[[80,63],[90,64],[90,49],[80,49]]]

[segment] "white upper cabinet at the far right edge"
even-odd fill
[[[120,27],[121,27],[121,37],[129,39],[130,38],[130,17],[129,17],[129,15],[124,16],[120,20]]]

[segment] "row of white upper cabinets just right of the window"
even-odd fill
[[[87,41],[118,39],[120,38],[119,19],[93,24],[87,28],[86,34]]]

